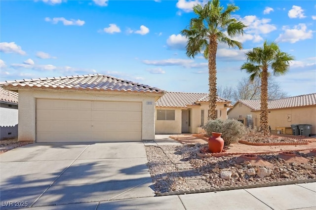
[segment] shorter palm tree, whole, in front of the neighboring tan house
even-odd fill
[[[261,78],[260,96],[260,130],[264,135],[269,134],[268,126],[268,77],[269,68],[273,75],[284,75],[289,70],[289,64],[294,57],[281,52],[275,42],[265,41],[263,47],[255,47],[246,53],[247,62],[241,66],[241,70],[246,70],[250,74],[249,79]]]

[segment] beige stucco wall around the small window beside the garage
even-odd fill
[[[157,110],[175,110],[174,120],[157,120]],[[181,108],[167,108],[156,107],[155,110],[155,127],[156,134],[181,134],[182,129],[182,109]]]

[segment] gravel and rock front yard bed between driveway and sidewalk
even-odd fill
[[[158,196],[316,181],[314,150],[197,157],[205,145],[146,146]]]

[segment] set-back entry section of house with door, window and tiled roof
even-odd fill
[[[167,92],[156,102],[156,134],[200,133],[207,122],[208,93]],[[217,97],[217,118],[227,118],[231,102]]]

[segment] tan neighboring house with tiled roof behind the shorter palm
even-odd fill
[[[311,124],[311,133],[316,134],[316,93],[268,101],[268,112],[272,130],[283,128],[285,133],[284,128],[291,132],[291,124]],[[242,121],[246,126],[259,127],[260,100],[237,101],[228,110],[228,118]]]

